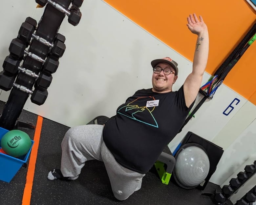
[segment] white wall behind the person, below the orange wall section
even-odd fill
[[[34,0],[9,0],[0,8],[0,63],[9,55],[8,47],[27,16],[40,20],[44,9]],[[64,19],[59,32],[67,49],[53,74],[46,102],[37,106],[30,99],[24,109],[69,127],[86,124],[98,115],[115,115],[116,108],[138,89],[151,87],[150,61],[169,56],[179,63],[177,90],[191,72],[192,63],[154,36],[100,0],[84,1],[82,19],[72,26]],[[8,16],[8,18],[6,17]],[[178,18],[178,17],[177,17]],[[182,17],[183,18],[183,17]],[[196,41],[189,31],[188,38]],[[246,53],[244,54],[246,55]],[[203,83],[209,78],[204,74]],[[6,101],[9,92],[1,92]],[[200,99],[198,96],[198,100]],[[223,111],[235,99],[240,102],[228,116]],[[211,182],[222,185],[253,154],[256,106],[222,85],[207,100],[195,118],[169,144],[173,151],[187,131],[224,148],[224,155]],[[253,122],[253,123],[252,123]],[[252,124],[251,124],[252,123]],[[253,144],[254,143],[254,144]],[[249,147],[249,150],[246,149]]]

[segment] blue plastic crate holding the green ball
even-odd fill
[[[9,130],[0,127],[0,141],[5,133],[9,132]],[[28,161],[29,155],[31,153],[32,146],[34,141],[31,140],[32,145],[30,147],[29,152],[19,158],[11,157],[7,154],[0,153],[0,180],[10,182],[11,179],[16,175],[21,166]],[[1,144],[0,144],[1,145]],[[0,146],[1,148],[1,146]]]

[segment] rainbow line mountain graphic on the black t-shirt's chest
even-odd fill
[[[155,100],[155,98],[152,96],[138,97],[134,101],[128,103],[128,105],[121,107],[117,113],[158,128],[157,121],[152,114],[152,112],[155,110],[155,107],[142,106],[146,105],[148,100]]]

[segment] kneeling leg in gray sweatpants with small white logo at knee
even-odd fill
[[[104,142],[101,155],[110,179],[113,194],[118,200],[125,200],[140,189],[142,178],[145,174],[132,171],[118,164]]]

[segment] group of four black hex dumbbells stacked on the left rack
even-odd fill
[[[56,35],[53,43],[36,36],[34,34],[36,31],[36,25],[37,22],[31,17],[28,17],[21,25],[18,32],[18,37],[11,41],[9,47],[10,55],[5,58],[3,63],[4,71],[0,73],[0,88],[8,91],[11,90],[12,86],[14,86],[21,91],[31,94],[31,101],[33,103],[42,105],[48,96],[47,88],[52,82],[52,74],[56,72],[58,68],[58,59],[63,56],[66,45],[64,44],[65,37],[59,33]],[[31,39],[39,41],[40,43],[50,47],[50,51],[46,59],[42,59],[38,55],[25,50],[28,45],[32,44]],[[19,66],[21,60],[24,60],[26,57],[30,57],[43,64],[39,75],[31,70]],[[35,78],[36,81],[34,84],[34,91],[14,83],[18,71]]]

